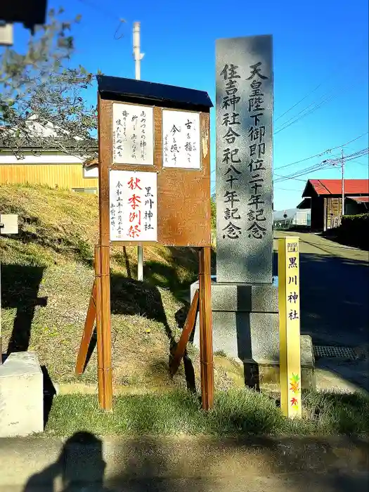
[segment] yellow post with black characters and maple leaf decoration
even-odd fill
[[[280,408],[301,417],[299,238],[278,244]]]

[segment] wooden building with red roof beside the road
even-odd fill
[[[309,179],[299,209],[311,209],[311,229],[326,231],[342,219],[342,180]],[[344,180],[344,214],[369,211],[369,179]]]

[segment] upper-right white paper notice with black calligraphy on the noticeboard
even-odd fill
[[[162,112],[163,167],[200,169],[200,115]]]

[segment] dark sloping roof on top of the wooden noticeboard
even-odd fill
[[[205,91],[187,89],[145,82],[143,80],[124,79],[96,75],[98,91],[103,99],[114,99],[141,104],[153,104],[166,108],[209,111],[213,104]]]

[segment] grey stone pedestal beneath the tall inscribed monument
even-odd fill
[[[191,301],[198,282],[190,287]],[[250,387],[279,391],[278,283],[212,281],[213,349],[238,358]],[[198,321],[193,338],[200,347]],[[315,388],[313,346],[301,337],[302,388]]]

